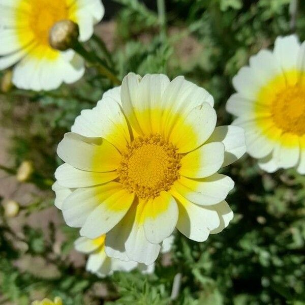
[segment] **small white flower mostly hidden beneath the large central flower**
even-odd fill
[[[102,235],[95,239],[87,237],[79,237],[74,242],[74,247],[78,252],[88,254],[86,270],[95,273],[97,276],[103,278],[112,275],[114,271],[131,271],[138,268],[142,273],[153,273],[155,264],[148,266],[131,261],[128,257],[125,260],[108,257],[105,252],[105,238]],[[170,251],[173,235],[163,241],[161,252],[166,253]]]

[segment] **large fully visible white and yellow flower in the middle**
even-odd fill
[[[242,128],[216,127],[213,98],[178,76],[130,73],[83,110],[57,148],[55,204],[80,234],[106,234],[110,257],[149,265],[175,227],[204,241],[233,213],[217,171],[246,151]]]

